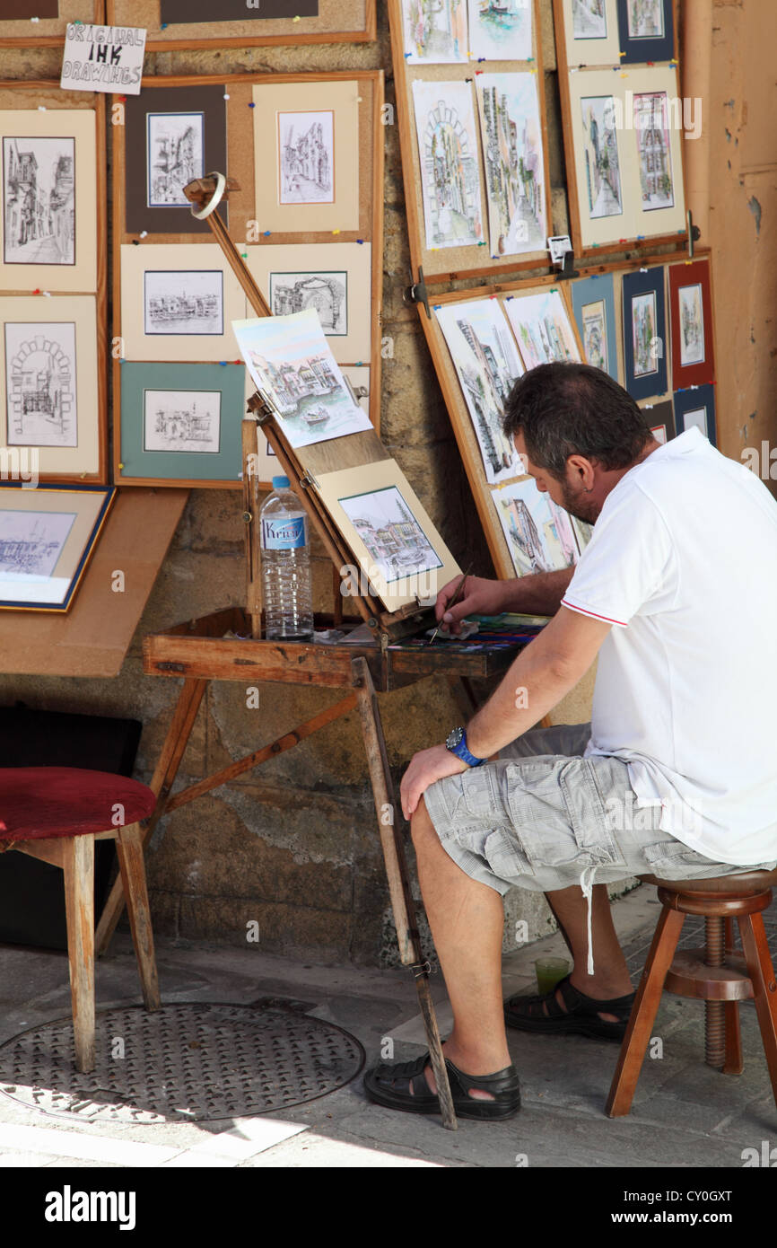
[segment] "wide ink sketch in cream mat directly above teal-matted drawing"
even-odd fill
[[[147,270],[143,273],[143,332],[224,332],[224,275],[221,270]]]

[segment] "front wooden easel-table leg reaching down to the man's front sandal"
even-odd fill
[[[399,957],[404,966],[412,966],[415,976],[415,990],[424,1030],[429,1043],[429,1056],[432,1070],[437,1082],[440,1109],[443,1113],[443,1126],[449,1131],[458,1128],[456,1114],[450,1094],[448,1081],[448,1068],[443,1056],[443,1045],[437,1025],[434,1002],[429,991],[429,972],[424,968],[422,957],[418,925],[415,920],[415,905],[410,892],[410,880],[408,864],[404,855],[402,831],[399,821],[402,811],[394,797],[394,785],[383,736],[380,711],[375,688],[365,659],[353,659],[353,683],[358,690],[358,706],[362,718],[362,733],[364,735],[364,749],[367,764],[375,801],[375,814],[380,830],[380,845],[385,862],[392,910],[397,925],[397,940],[399,942]]]

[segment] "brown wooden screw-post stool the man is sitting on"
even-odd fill
[[[775,1101],[777,1102],[777,982],[762,911],[772,900],[775,871],[747,871],[713,880],[657,880],[664,909],[642,971],[621,1045],[605,1112],[629,1113],[664,988],[705,1001],[706,1062],[725,1075],[741,1075],[740,1001],[753,998]],[[705,948],[675,957],[686,915],[703,915]],[[733,919],[742,953],[733,951]],[[666,981],[666,982],[665,982]]]

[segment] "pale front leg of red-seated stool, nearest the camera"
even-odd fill
[[[95,837],[70,836],[62,845],[67,960],[76,1070],[95,1068]]]

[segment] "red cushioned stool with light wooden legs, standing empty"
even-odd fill
[[[0,852],[20,850],[62,869],[76,1070],[95,1068],[95,841],[115,840],[146,1010],[160,986],[138,821],[151,789],[79,768],[0,768]]]

